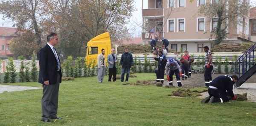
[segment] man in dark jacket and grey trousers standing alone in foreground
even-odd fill
[[[58,35],[51,32],[47,35],[47,44],[39,51],[39,78],[38,82],[43,84],[42,121],[52,123],[51,119],[57,117],[58,92],[61,83],[61,63],[54,48],[58,44]]]

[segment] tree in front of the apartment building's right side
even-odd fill
[[[227,38],[229,34],[227,29],[237,28],[237,24],[241,25],[243,16],[248,15],[248,9],[250,8],[249,2],[246,2],[246,0],[216,1],[208,2],[198,10],[198,14],[207,17],[209,23],[213,18],[218,19],[217,26],[215,30],[211,31],[210,36],[210,39],[215,36],[215,45]]]

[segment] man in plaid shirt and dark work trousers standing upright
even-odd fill
[[[212,82],[212,52],[209,50],[208,46],[204,46],[204,52],[205,54],[205,72],[204,72],[204,83],[205,88],[209,87],[209,84]]]

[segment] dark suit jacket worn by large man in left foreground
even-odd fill
[[[57,54],[58,55],[58,54]],[[59,57],[58,57],[58,60]],[[57,83],[57,74],[60,74],[60,83],[61,83],[61,70],[58,70],[58,61],[55,58],[54,53],[52,52],[51,47],[46,44],[39,51],[39,78],[38,82],[44,84],[44,81],[49,80],[49,84]]]

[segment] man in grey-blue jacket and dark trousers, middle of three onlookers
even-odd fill
[[[116,82],[116,68],[117,68],[117,57],[115,54],[115,49],[111,49],[111,54],[108,55],[108,82],[111,82],[111,77],[113,74],[113,82]]]

